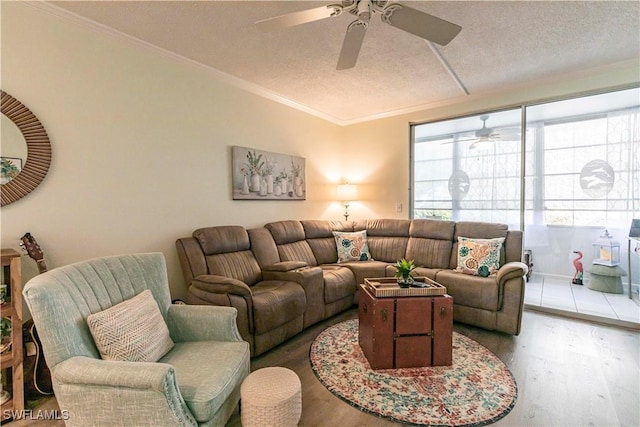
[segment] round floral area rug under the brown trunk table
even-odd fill
[[[416,426],[482,426],[516,403],[505,364],[482,345],[453,333],[453,365],[374,371],[358,344],[358,320],[323,331],[311,345],[311,368],[334,395],[356,408]]]

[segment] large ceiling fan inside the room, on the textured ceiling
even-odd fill
[[[357,19],[347,27],[347,34],[342,43],[336,67],[337,70],[355,67],[369,21],[371,16],[376,13],[380,14],[380,19],[385,24],[441,46],[453,40],[462,29],[459,25],[444,19],[399,3],[389,3],[387,0],[342,0],[336,4],[264,19],[256,22],[256,25],[263,31],[273,31],[320,19],[332,18],[342,14],[344,11],[355,15]]]

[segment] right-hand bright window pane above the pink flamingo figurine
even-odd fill
[[[640,210],[639,99],[624,91],[527,109],[527,223],[631,223]]]

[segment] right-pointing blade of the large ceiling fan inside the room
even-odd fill
[[[462,29],[457,24],[400,4],[387,6],[383,12],[382,20],[392,27],[441,46],[453,40]]]

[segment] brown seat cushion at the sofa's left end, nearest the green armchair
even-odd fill
[[[265,280],[253,286],[251,291],[256,334],[271,331],[296,317],[302,317],[307,305],[304,289],[295,282]]]

